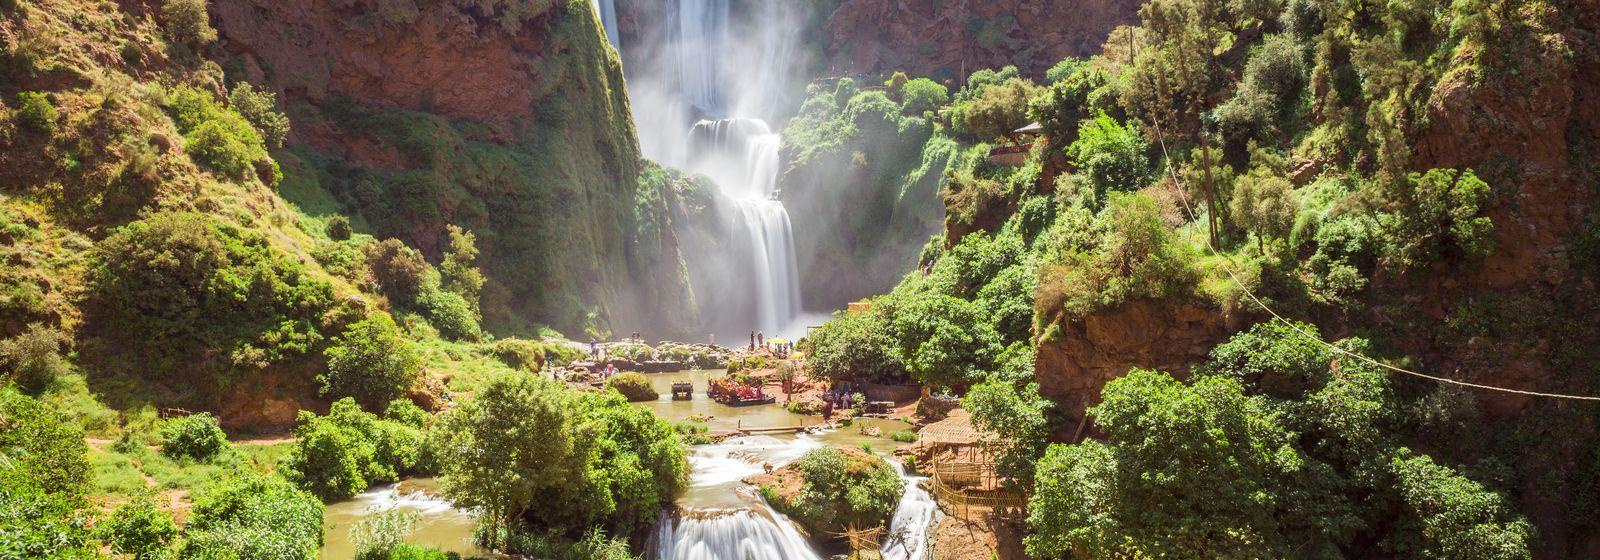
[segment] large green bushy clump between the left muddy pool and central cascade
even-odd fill
[[[488,379],[429,434],[445,494],[480,509],[490,534],[518,526],[630,534],[654,522],[688,472],[672,424],[650,410],[528,374]]]

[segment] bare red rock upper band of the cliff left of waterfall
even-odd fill
[[[392,21],[362,2],[336,5],[222,0],[211,10],[251,82],[270,80],[290,99],[344,96],[491,123],[533,112],[534,64],[550,48],[542,34],[510,34],[448,2],[418,2],[414,16]]]

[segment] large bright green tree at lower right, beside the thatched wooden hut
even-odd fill
[[[1298,514],[1312,466],[1266,400],[1227,378],[1144,370],[1102,398],[1090,414],[1106,442],[1053,445],[1038,462],[1030,555],[1283,557],[1315,541]]]

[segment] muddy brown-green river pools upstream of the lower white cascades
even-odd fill
[[[661,398],[638,403],[638,406],[656,411],[661,418],[677,422],[696,416],[709,416],[706,426],[712,432],[728,432],[738,427],[776,427],[776,426],[816,426],[821,416],[794,414],[782,408],[784,397],[778,397],[776,405],[763,406],[726,406],[706,397],[707,379],[723,374],[723,371],[682,371],[650,374]],[[672,382],[690,379],[694,382],[693,400],[672,400]],[[869,427],[877,427],[880,435],[866,435]],[[877,451],[891,451],[901,443],[888,435],[909,429],[910,424],[899,419],[856,419],[850,427],[840,427],[822,434],[774,434],[731,438],[720,445],[698,445],[690,448],[690,490],[678,498],[680,506],[688,507],[741,507],[750,506],[755,498],[752,488],[744,485],[744,477],[760,474],[766,464],[779,467],[797,459],[805,451],[822,445],[859,446],[870,445]],[[437,496],[438,483],[432,478],[413,478],[400,485],[384,485],[371,488],[354,499],[328,504],[323,514],[323,558],[352,558],[355,547],[350,542],[350,525],[355,522],[398,507],[418,514],[416,528],[406,542],[432,546],[446,552],[462,555],[488,555],[486,550],[472,544],[474,517],[470,512],[458,510]]]

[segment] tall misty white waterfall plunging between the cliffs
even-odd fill
[[[778,123],[806,67],[806,6],[792,2],[669,0],[619,40],[616,0],[595,0],[619,45],[645,157],[715,184],[699,224],[675,224],[704,328],[803,334],[789,213],[778,200]],[[646,18],[637,16],[637,18]],[[696,229],[696,232],[685,232]]]

